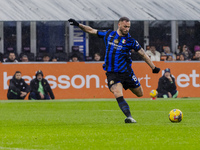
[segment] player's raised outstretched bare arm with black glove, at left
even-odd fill
[[[90,26],[86,26],[84,24],[78,23],[74,19],[69,19],[68,21],[69,21],[70,25],[77,26],[77,27],[79,27],[81,30],[83,30],[86,33],[97,35],[97,30],[91,28]]]

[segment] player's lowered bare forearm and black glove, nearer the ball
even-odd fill
[[[160,68],[157,68],[154,65],[154,63],[151,61],[151,59],[146,54],[146,52],[144,51],[143,48],[141,48],[140,50],[138,50],[138,53],[140,54],[140,56],[142,57],[142,59],[151,67],[151,69],[153,70],[153,73],[158,73],[160,71]]]

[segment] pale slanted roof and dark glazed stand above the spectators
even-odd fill
[[[162,52],[170,46],[175,53],[178,45],[187,45],[194,53],[200,45],[200,2],[198,0],[1,0],[0,52],[20,55],[31,52],[30,60],[41,60],[40,53],[54,56],[77,49],[83,60],[91,60],[95,52],[104,54],[104,44],[97,37],[69,26],[75,18],[97,29],[117,28],[122,16],[131,20],[131,35],[146,49],[151,44]],[[38,57],[37,57],[38,56]]]

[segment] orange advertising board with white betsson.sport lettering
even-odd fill
[[[153,74],[145,62],[134,62],[133,70],[144,89],[143,98],[150,97],[149,92],[156,89],[158,80],[165,68],[170,68],[176,79],[178,97],[200,97],[199,62],[154,62],[161,68],[159,74]],[[107,87],[103,63],[67,62],[67,63],[31,63],[0,64],[0,99],[7,99],[9,80],[15,71],[21,71],[29,84],[37,70],[42,70],[49,81],[56,99],[70,98],[114,98]],[[126,98],[136,98],[129,90],[124,91]],[[26,98],[27,99],[27,98]]]

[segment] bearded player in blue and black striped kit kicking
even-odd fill
[[[129,34],[130,20],[127,17],[122,17],[118,22],[117,31],[98,31],[90,26],[78,23],[74,19],[69,19],[70,25],[74,25],[89,34],[97,35],[104,39],[106,45],[106,53],[103,64],[103,69],[106,71],[108,87],[114,94],[118,105],[122,112],[127,117],[125,123],[136,123],[132,118],[128,103],[123,97],[123,88],[131,90],[136,96],[143,96],[143,89],[135,76],[131,64],[130,51],[134,49],[138,52],[145,62],[152,68],[153,73],[158,73],[160,68],[155,67],[148,55],[140,44]]]

